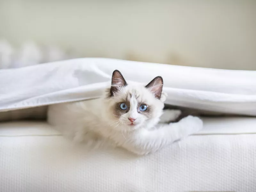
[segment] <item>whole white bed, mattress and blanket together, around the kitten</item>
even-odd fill
[[[147,156],[88,150],[45,120],[6,121],[26,119],[11,118],[17,110],[97,98],[113,69],[138,82],[162,75],[169,105],[240,116],[204,117],[202,131]],[[255,87],[255,71],[110,59],[0,70],[0,191],[256,191]]]

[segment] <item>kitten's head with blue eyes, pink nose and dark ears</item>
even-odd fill
[[[123,75],[115,70],[111,88],[105,96],[107,118],[116,130],[152,127],[159,121],[164,108],[165,94],[163,78],[155,77],[146,86],[138,83],[127,84]]]

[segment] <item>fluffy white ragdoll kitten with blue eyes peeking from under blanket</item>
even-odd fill
[[[76,141],[110,141],[136,154],[155,152],[202,129],[198,117],[180,116],[180,110],[164,110],[163,79],[143,86],[127,84],[115,70],[111,88],[100,99],[49,106],[48,122]]]

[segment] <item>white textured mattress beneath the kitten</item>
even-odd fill
[[[148,156],[88,150],[46,122],[0,124],[0,191],[256,191],[256,118],[204,129]]]

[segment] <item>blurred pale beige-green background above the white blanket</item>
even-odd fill
[[[0,0],[0,68],[78,57],[256,70],[256,1]]]

